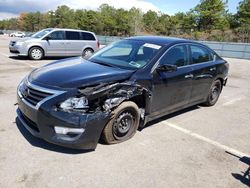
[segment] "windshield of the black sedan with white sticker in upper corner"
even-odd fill
[[[122,40],[101,49],[89,61],[126,69],[139,69],[149,63],[162,46],[136,40]]]

